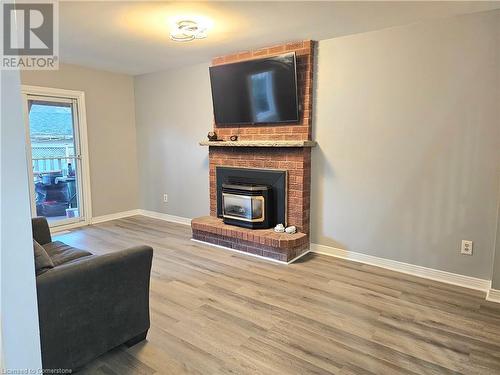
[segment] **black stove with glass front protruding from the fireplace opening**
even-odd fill
[[[272,189],[266,185],[222,184],[224,223],[252,229],[270,228]]]

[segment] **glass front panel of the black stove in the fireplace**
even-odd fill
[[[262,222],[265,219],[264,197],[222,193],[222,209],[225,218]]]

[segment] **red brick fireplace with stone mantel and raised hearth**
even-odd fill
[[[309,249],[311,140],[314,42],[303,41],[213,59],[213,65],[295,52],[300,121],[293,124],[217,126],[224,142],[200,142],[209,147],[210,216],[192,220],[193,239],[290,262]],[[237,135],[237,141],[230,141]],[[217,167],[286,171],[286,223],[295,234],[273,229],[248,229],[224,224],[217,217]],[[220,202],[220,199],[219,199]],[[219,210],[220,211],[220,210]]]

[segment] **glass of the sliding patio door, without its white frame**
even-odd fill
[[[36,215],[51,224],[79,217],[73,108],[55,102],[29,105]]]

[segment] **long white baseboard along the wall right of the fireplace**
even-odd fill
[[[391,259],[379,258],[372,255],[356,253],[354,251],[337,249],[335,247],[311,243],[311,251],[313,253],[353,260],[356,262],[382,267],[413,276],[423,277],[425,279],[440,281],[443,283],[457,285],[469,289],[481,290],[483,292],[488,292],[491,288],[490,280],[478,279],[471,276],[464,276],[457,273],[417,266],[415,264],[398,262]]]

